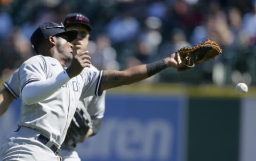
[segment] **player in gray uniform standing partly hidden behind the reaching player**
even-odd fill
[[[64,25],[67,29],[74,28],[78,30],[79,34],[72,42],[74,45],[73,51],[84,51],[89,42],[89,31],[92,29],[89,19],[81,13],[71,13],[67,15]],[[87,70],[98,71],[92,65]],[[7,95],[5,96],[6,103],[0,103],[0,111],[6,111],[12,100],[19,97],[17,82],[18,69],[3,84],[5,89],[1,92],[0,96],[4,95],[4,93]],[[103,92],[101,96],[89,96],[80,99],[75,117],[71,121],[66,139],[61,146],[60,156],[62,160],[81,160],[75,150],[76,144],[98,133],[105,112],[105,93]],[[77,120],[80,121],[77,122]]]

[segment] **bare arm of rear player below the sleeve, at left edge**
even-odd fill
[[[11,102],[14,100],[12,94],[6,89],[0,92],[0,116],[2,116],[8,109]]]

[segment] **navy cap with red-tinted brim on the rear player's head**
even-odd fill
[[[92,26],[90,25],[90,20],[85,15],[81,13],[70,13],[66,16],[63,25],[65,27],[69,27],[71,25],[84,25],[89,31],[92,30]]]

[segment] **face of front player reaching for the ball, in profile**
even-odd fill
[[[73,58],[73,45],[68,42],[66,35],[56,36],[56,48],[63,59],[71,60]]]

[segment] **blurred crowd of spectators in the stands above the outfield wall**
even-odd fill
[[[147,83],[256,85],[254,0],[0,0],[0,78],[34,55],[30,35],[71,12],[92,24],[88,51],[99,69],[122,70],[167,57],[209,37],[222,55],[179,74],[166,69]]]

